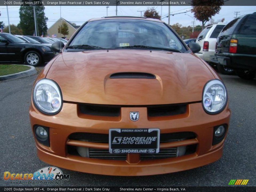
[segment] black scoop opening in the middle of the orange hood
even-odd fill
[[[110,79],[155,79],[155,75],[151,73],[141,73],[141,72],[121,72],[121,73],[112,73],[109,78]]]

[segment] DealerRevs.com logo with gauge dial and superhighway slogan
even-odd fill
[[[58,167],[44,167],[34,173],[10,173],[5,171],[3,179],[10,184],[63,184],[69,180],[69,174],[63,174]]]

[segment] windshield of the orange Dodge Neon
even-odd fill
[[[83,45],[105,49],[155,47],[163,50],[186,51],[181,41],[164,23],[137,19],[88,22],[67,48]]]

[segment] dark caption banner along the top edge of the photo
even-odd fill
[[[219,5],[220,0],[202,0],[198,6]],[[0,6],[191,6],[192,0],[6,0]],[[207,3],[208,2],[208,3]],[[255,0],[223,0],[223,6],[256,6]]]

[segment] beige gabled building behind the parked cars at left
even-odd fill
[[[75,31],[80,27],[77,25],[72,25],[72,23],[61,17],[52,26],[50,26],[50,28],[47,30],[47,34],[49,34],[50,37],[52,37],[52,35],[57,35],[57,37],[64,38],[64,35],[58,33],[58,27],[61,25],[62,22],[67,23],[67,26],[69,27],[69,34],[65,35],[67,39],[70,39],[71,36],[75,33]]]

